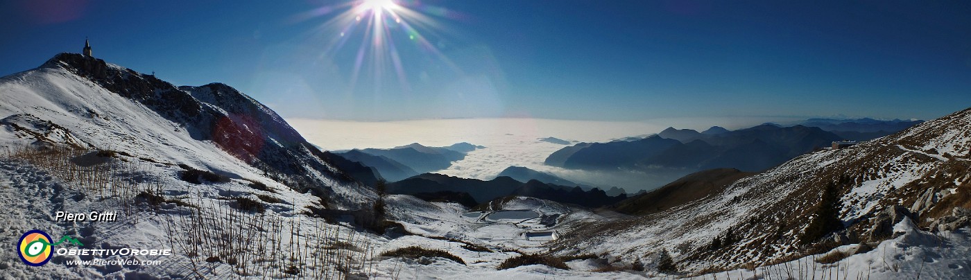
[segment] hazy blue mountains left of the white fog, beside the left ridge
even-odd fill
[[[373,168],[385,180],[398,181],[423,172],[448,169],[452,166],[452,162],[464,159],[465,153],[480,148],[485,147],[467,142],[444,147],[429,147],[419,143],[411,143],[389,149],[352,149],[336,154],[352,162]]]

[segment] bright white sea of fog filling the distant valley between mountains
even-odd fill
[[[773,119],[773,120],[778,120]],[[628,192],[652,190],[690,171],[575,171],[543,165],[552,152],[567,146],[539,139],[610,141],[659,133],[669,126],[698,131],[712,125],[727,129],[750,127],[765,118],[679,118],[640,122],[553,120],[534,118],[471,118],[405,121],[346,121],[289,118],[308,141],[326,150],[390,148],[419,142],[446,146],[470,142],[485,148],[469,152],[447,170],[452,176],[489,180],[511,166],[547,171],[593,186],[619,186]],[[571,143],[572,145],[572,143]]]

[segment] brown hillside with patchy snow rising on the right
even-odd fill
[[[965,109],[878,140],[799,156],[660,213],[566,234],[554,249],[626,262],[666,250],[679,269],[700,271],[882,240],[908,212],[925,229],[954,230],[967,226],[960,209],[971,208],[969,149],[971,109]],[[846,229],[810,236],[811,222],[823,219],[818,209],[825,208],[827,186]]]

